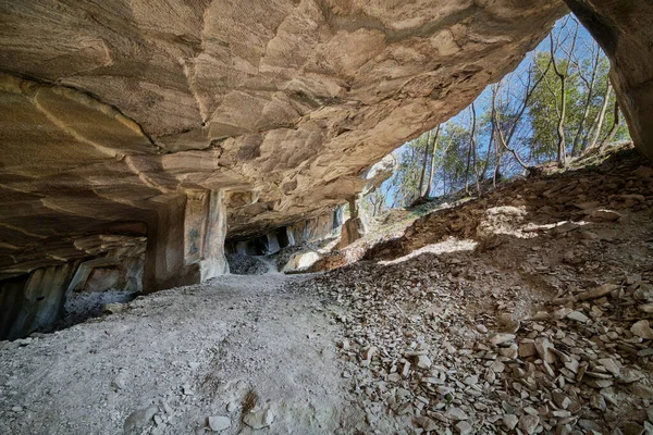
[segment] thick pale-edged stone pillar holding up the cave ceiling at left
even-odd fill
[[[190,190],[157,210],[148,225],[145,290],[198,284],[229,273],[226,211],[219,191]]]

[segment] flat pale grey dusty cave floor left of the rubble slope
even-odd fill
[[[270,410],[264,433],[334,433],[355,414],[335,326],[319,300],[275,290],[305,278],[224,276],[14,341],[0,351],[0,433],[118,434],[155,407],[156,422],[125,432],[195,433],[229,415],[223,433],[247,434],[244,406]]]

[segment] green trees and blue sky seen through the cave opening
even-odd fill
[[[489,91],[477,100],[477,148],[476,159],[472,159],[469,170],[469,186],[476,184],[477,174],[482,174],[488,179],[493,177],[495,170],[497,175],[504,177],[521,173],[523,167],[514,153],[521,159],[523,165],[535,165],[556,159],[562,86],[559,77],[551,66],[550,44],[553,41],[556,45],[553,50],[555,64],[558,72],[565,75],[566,104],[563,126],[567,154],[578,156],[591,146],[595,137],[599,145],[609,135],[614,123],[614,91],[609,92],[605,119],[596,135],[600,112],[609,84],[609,62],[587,32],[581,30],[576,39],[574,20],[560,21],[553,32],[554,37],[541,44],[530,58],[530,63],[525,61],[519,70],[504,77],[500,84],[493,85],[496,116],[493,116]],[[428,132],[397,150],[397,172],[384,184],[382,192],[370,194],[366,200],[367,206],[364,207],[378,213],[383,208],[380,207],[381,201],[384,202],[381,204],[384,207],[411,204],[420,194],[422,167],[426,165],[424,178],[428,181],[431,161],[434,171],[430,190],[432,195],[447,195],[464,188],[472,141],[469,112],[463,113],[442,125],[434,157],[428,156],[427,162],[424,147]],[[497,130],[502,132],[509,149],[498,145]],[[434,135],[434,130],[431,134]],[[614,139],[628,138],[628,129],[624,117],[620,116]]]

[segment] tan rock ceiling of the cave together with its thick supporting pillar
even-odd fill
[[[146,290],[224,273],[225,237],[332,212],[566,12],[557,0],[3,2],[0,278],[104,258],[102,237],[147,237]]]

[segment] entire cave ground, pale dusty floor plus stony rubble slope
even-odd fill
[[[224,276],[1,343],[0,433],[653,433],[653,169],[637,154],[395,236],[331,272]]]

